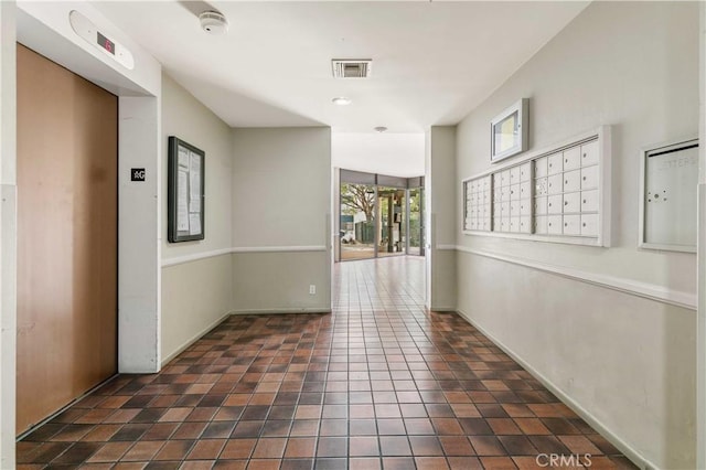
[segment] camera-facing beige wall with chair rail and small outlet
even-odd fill
[[[233,145],[234,311],[329,311],[331,129],[242,128]]]

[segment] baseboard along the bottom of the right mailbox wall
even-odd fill
[[[473,328],[483,333],[489,340],[491,340],[498,348],[503,350],[505,354],[512,357],[517,364],[520,364],[525,371],[527,371],[532,376],[534,376],[537,381],[542,383],[549,392],[556,395],[565,405],[567,405],[574,413],[580,416],[586,423],[588,423],[593,429],[596,429],[601,436],[603,436],[610,444],[616,446],[618,450],[620,450],[628,459],[630,459],[635,466],[643,470],[653,470],[659,469],[657,466],[646,460],[642,457],[637,450],[634,450],[629,444],[613,434],[608,427],[606,427],[600,420],[598,420],[590,412],[584,408],[581,405],[576,403],[569,395],[567,395],[564,391],[557,387],[552,381],[545,377],[542,373],[539,373],[536,368],[530,365],[526,361],[524,361],[518,354],[503,344],[498,338],[495,338],[492,333],[485,330],[483,327],[478,324],[473,319],[471,319],[468,314],[462,312],[461,310],[457,310],[457,313],[461,316],[466,321],[471,323]]]

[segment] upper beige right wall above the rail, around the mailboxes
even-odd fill
[[[612,248],[466,236],[459,241],[695,292],[694,255],[635,247],[641,147],[698,133],[697,3],[589,6],[459,125],[459,179],[491,167],[489,122],[521,97],[531,98],[530,150],[599,125],[613,126]],[[457,184],[457,200],[460,191]],[[457,232],[460,225],[459,218]]]

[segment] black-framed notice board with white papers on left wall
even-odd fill
[[[169,137],[168,239],[204,239],[205,153],[174,136]]]

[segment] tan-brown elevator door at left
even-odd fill
[[[17,432],[117,371],[118,99],[18,44]]]

